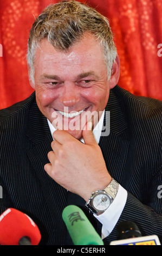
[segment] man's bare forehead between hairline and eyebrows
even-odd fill
[[[43,39],[40,47],[36,48],[35,60],[39,62],[56,61],[67,64],[80,64],[85,62],[104,60],[104,54],[99,42],[91,34],[86,34],[80,41],[75,42],[67,51],[59,51],[50,44],[48,39]]]

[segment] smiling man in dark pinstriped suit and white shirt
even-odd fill
[[[44,245],[67,243],[69,203],[86,204],[105,245],[124,220],[162,239],[162,102],[116,85],[107,19],[76,1],[50,5],[31,28],[28,66],[35,93],[0,114],[1,212],[28,214]]]

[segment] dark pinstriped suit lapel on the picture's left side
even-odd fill
[[[47,155],[52,150],[50,145],[53,138],[51,137],[47,119],[38,109],[36,102],[30,108],[27,137],[32,143],[27,154],[41,182],[44,200],[48,204],[51,217],[56,222],[57,216],[61,216],[62,210],[66,206],[67,191],[51,179],[44,170],[44,165],[49,163]],[[58,195],[61,200],[58,204],[59,207],[57,205],[56,208],[55,204],[58,201]]]

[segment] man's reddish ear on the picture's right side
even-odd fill
[[[116,55],[115,62],[112,65],[112,74],[110,78],[110,89],[114,88],[118,84],[120,77],[120,59],[118,54]]]

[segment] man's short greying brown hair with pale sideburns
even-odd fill
[[[62,1],[44,9],[30,30],[27,54],[30,80],[34,83],[35,51],[42,39],[47,38],[59,51],[68,51],[85,33],[93,34],[96,41],[100,42],[109,79],[116,58],[116,47],[107,18],[86,4]]]

